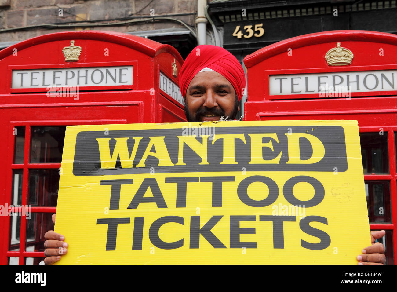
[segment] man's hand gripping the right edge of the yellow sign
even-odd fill
[[[385,236],[385,230],[371,231],[371,246],[362,250],[362,255],[357,256],[358,265],[384,265],[386,261],[385,246],[376,239]]]

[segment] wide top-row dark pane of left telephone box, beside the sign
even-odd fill
[[[30,162],[60,163],[66,127],[32,127]]]

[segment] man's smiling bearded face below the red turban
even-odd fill
[[[199,72],[186,91],[185,115],[188,122],[234,119],[240,106],[231,83],[218,72]]]

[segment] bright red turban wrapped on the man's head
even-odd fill
[[[245,74],[240,62],[230,52],[220,46],[202,44],[186,57],[179,72],[179,89],[186,98],[187,87],[200,70],[210,68],[225,77],[237,94],[239,101],[245,88]]]

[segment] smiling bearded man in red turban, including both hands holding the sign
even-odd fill
[[[222,116],[234,119],[245,89],[245,74],[239,61],[227,50],[218,46],[197,46],[187,56],[179,72],[179,87],[185,97],[185,115],[188,122],[217,121]],[[52,216],[55,223],[55,214]],[[372,246],[362,249],[358,264],[385,263],[385,248],[376,239],[385,231],[371,231]],[[46,264],[59,261],[60,250],[67,253],[65,237],[48,231],[44,237]]]

